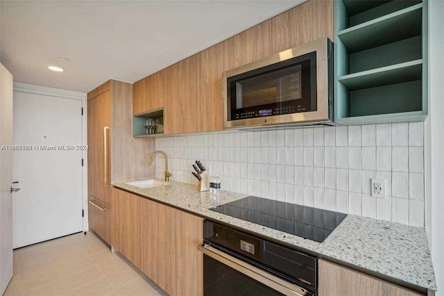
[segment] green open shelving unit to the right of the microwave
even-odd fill
[[[335,122],[425,120],[427,1],[338,0],[334,14]]]

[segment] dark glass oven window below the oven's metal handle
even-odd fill
[[[203,256],[204,296],[284,295],[210,256]]]

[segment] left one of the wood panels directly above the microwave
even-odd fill
[[[271,55],[271,20],[228,39],[230,69]]]

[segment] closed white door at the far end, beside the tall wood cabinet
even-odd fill
[[[83,230],[81,107],[14,92],[14,143],[24,145],[12,162],[21,188],[12,200],[14,248]]]

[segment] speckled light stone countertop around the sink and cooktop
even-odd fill
[[[427,235],[422,227],[349,214],[321,243],[209,210],[248,195],[221,190],[219,196],[214,196],[210,192],[198,192],[191,184],[176,181],[148,189],[124,182],[112,185],[382,279],[436,290]]]

